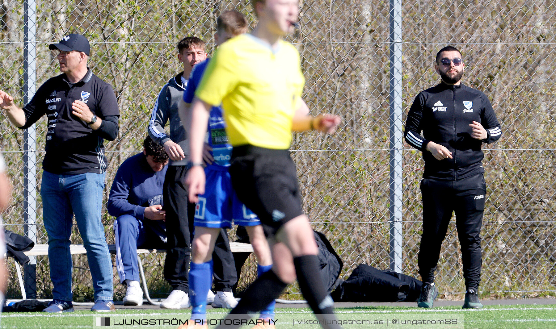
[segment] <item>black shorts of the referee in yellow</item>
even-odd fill
[[[230,166],[237,197],[259,216],[266,235],[303,215],[294,161],[287,149],[235,146]]]

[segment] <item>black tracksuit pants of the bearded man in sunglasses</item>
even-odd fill
[[[434,271],[448,223],[455,212],[466,288],[479,287],[481,276],[481,225],[486,198],[483,173],[456,181],[423,178],[423,235],[418,256],[423,282],[434,282]]]

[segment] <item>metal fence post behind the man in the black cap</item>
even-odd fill
[[[23,102],[31,101],[37,82],[36,73],[36,22],[37,4],[35,0],[23,2],[24,11],[24,38],[23,38]],[[25,222],[25,235],[33,242],[37,242],[37,157],[35,125],[27,128],[23,133],[23,221]],[[31,261],[25,266],[25,290],[27,298],[37,297],[36,268],[37,257],[31,256]]]

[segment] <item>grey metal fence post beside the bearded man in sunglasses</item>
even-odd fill
[[[401,0],[390,0],[390,270],[401,272]]]

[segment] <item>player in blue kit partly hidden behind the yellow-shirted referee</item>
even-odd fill
[[[237,11],[225,11],[217,19],[215,40],[217,44],[234,36],[247,32],[247,21]],[[193,101],[195,90],[201,82],[202,74],[209,59],[193,68],[180,106],[182,122],[188,122],[186,109]],[[245,226],[251,245],[257,257],[257,273],[262,275],[272,268],[270,247],[266,241],[261,222],[257,215],[250,211],[237,198],[230,178],[230,159],[232,146],[228,142],[222,117],[222,108],[212,107],[207,127],[207,144],[212,148],[214,163],[205,168],[206,189],[195,209],[195,237],[191,243],[191,266],[189,271],[192,320],[206,319],[206,296],[212,286],[212,249],[220,228],[236,225]],[[198,297],[197,297],[198,296]],[[217,296],[218,297],[218,296]],[[215,298],[216,301],[216,298]],[[274,328],[274,305],[270,303],[261,311],[261,321],[255,328]],[[228,305],[233,308],[235,305]],[[191,321],[190,321],[191,322]],[[185,328],[206,328],[206,325],[190,323]]]

